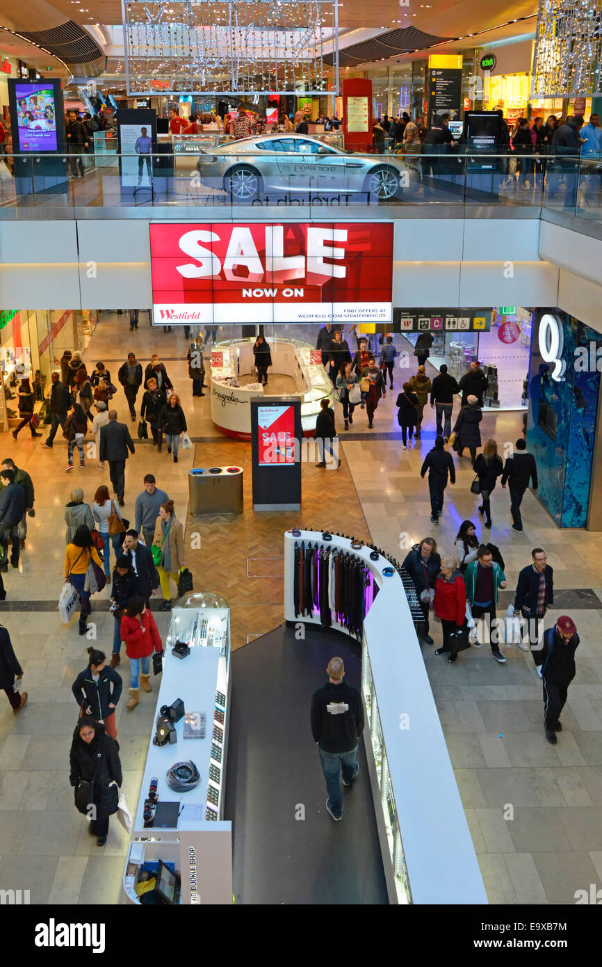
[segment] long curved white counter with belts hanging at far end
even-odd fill
[[[307,551],[319,558],[314,571],[318,603],[315,595],[307,594],[311,568],[304,571],[300,595],[300,559],[302,568]],[[356,597],[363,595],[351,614],[349,593],[340,598],[346,611],[329,605],[339,600],[328,564],[338,555],[345,562],[339,572],[355,572]],[[363,572],[363,581],[357,571]],[[447,905],[452,897],[459,904],[487,903],[416,637],[419,609],[409,592],[405,571],[375,548],[320,531],[285,534],[287,623],[339,630],[355,637],[361,647],[364,747],[389,902]]]

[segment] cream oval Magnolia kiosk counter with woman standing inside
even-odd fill
[[[240,377],[254,372],[254,337],[230,339],[213,347],[211,365],[211,417],[222,433],[239,440],[251,438],[251,399],[269,396],[261,383],[240,383]],[[274,338],[270,341],[272,373],[282,373],[295,380],[296,391],[278,396],[301,396],[303,436],[313,436],[320,400],[332,396],[332,384],[322,363],[313,363],[315,349],[302,339]]]

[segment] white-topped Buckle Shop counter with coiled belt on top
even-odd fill
[[[232,824],[223,821],[229,619],[226,601],[212,594],[186,595],[172,608],[132,811],[126,903],[232,903]]]

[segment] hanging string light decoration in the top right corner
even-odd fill
[[[602,0],[539,0],[531,98],[602,92]]]

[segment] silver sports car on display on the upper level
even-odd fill
[[[196,162],[201,184],[233,202],[269,192],[402,198],[419,184],[417,166],[394,155],[363,155],[333,148],[307,134],[263,134],[213,148]]]

